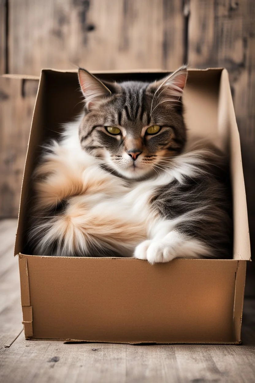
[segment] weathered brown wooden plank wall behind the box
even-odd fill
[[[0,0],[0,70],[226,67],[255,248],[254,0]],[[0,216],[17,216],[37,82],[0,80]]]

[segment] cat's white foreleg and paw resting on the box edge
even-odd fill
[[[176,230],[171,221],[156,225],[153,239],[142,242],[134,252],[135,258],[148,260],[150,264],[169,262],[174,258],[199,259],[203,255],[211,255],[209,247]]]

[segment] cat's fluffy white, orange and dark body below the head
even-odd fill
[[[78,126],[69,124],[36,168],[29,232],[34,254],[135,255],[151,263],[211,256],[219,249],[227,254],[226,193],[201,170],[206,152],[187,152],[152,178],[127,181],[81,149]],[[215,230],[217,243],[210,242]]]

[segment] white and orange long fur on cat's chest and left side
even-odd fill
[[[67,244],[63,248],[71,254],[81,249],[98,252],[103,244],[110,251],[132,256],[158,220],[149,205],[153,191],[171,177],[131,182],[104,170],[102,161],[81,149],[78,123],[70,124],[65,138],[49,149],[36,169],[34,183],[35,213],[47,217],[42,230],[48,235],[39,244],[40,254],[47,254],[47,240],[55,238]]]

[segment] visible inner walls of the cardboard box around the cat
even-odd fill
[[[96,75],[107,81],[127,79],[153,81],[164,77],[166,73],[168,72],[110,72]],[[80,113],[82,100],[76,72],[42,70],[29,137],[15,254],[19,252],[29,254],[26,246],[26,231],[28,204],[32,198],[31,174],[40,158],[41,145],[45,140],[57,138],[62,124],[72,121]],[[225,151],[230,148],[234,216],[233,259],[250,260],[240,142],[227,71],[189,70],[187,85],[184,89],[184,107],[188,137],[203,137]]]

